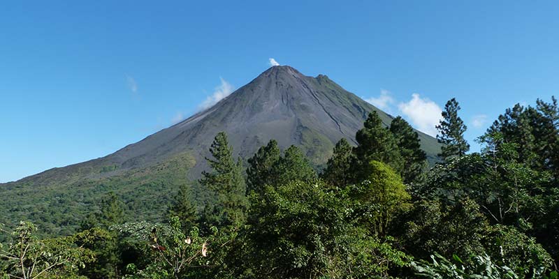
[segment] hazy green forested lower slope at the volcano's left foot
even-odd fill
[[[4,197],[0,223],[13,227],[19,220],[31,220],[41,227],[41,234],[69,235],[91,212],[100,210],[101,199],[110,192],[122,200],[126,220],[161,220],[193,165],[194,158],[183,153],[152,167],[70,186],[8,183],[0,190]]]

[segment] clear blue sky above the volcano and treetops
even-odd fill
[[[193,2],[3,3],[0,182],[142,140],[270,58],[422,130],[456,97],[470,142],[559,93],[558,1]]]

